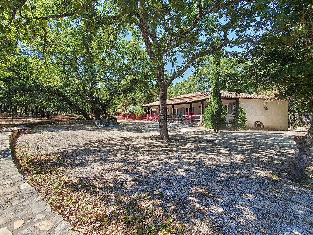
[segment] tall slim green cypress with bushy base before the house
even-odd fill
[[[211,82],[211,98],[208,99],[208,107],[205,109],[204,126],[214,129],[220,128],[225,123],[226,110],[222,106],[221,86],[220,86],[221,52],[216,52],[212,56],[213,78]]]

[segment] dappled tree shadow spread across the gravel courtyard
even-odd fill
[[[163,141],[155,133],[159,130],[156,123],[60,128],[92,134],[122,132],[54,152],[67,167],[66,175],[88,184],[92,195],[105,198],[109,205],[120,195],[145,195],[168,215],[188,224],[194,234],[312,232],[310,190],[285,175],[294,154],[292,136],[214,134],[203,128],[169,125],[171,140]],[[51,131],[58,131],[57,127]]]

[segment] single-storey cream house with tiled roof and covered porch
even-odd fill
[[[186,112],[194,112],[196,119],[200,121],[205,107],[208,106],[207,99],[211,97],[206,92],[196,92],[180,95],[167,100],[167,115],[181,116],[187,115]],[[231,127],[232,113],[234,107],[243,107],[246,116],[246,127],[249,129],[269,129],[269,130],[288,130],[288,101],[278,100],[275,97],[254,94],[236,94],[233,92],[221,92],[222,105],[228,111],[226,123]],[[142,105],[148,114],[159,114],[159,101]],[[198,122],[198,124],[201,122]]]

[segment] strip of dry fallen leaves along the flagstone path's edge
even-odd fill
[[[148,196],[120,195],[112,206],[94,193],[92,183],[66,177],[67,167],[57,156],[17,148],[16,157],[28,183],[81,234],[187,234],[182,222],[166,215]]]

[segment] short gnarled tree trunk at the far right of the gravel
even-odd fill
[[[309,160],[310,149],[313,145],[313,125],[310,123],[310,128],[305,136],[295,136],[296,143],[295,157],[288,172],[288,175],[294,180],[305,180],[304,169]]]

